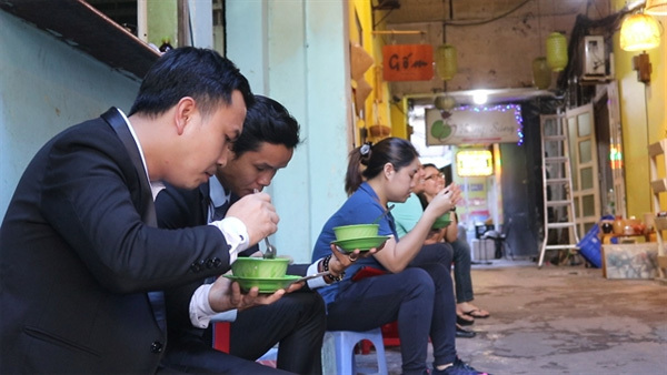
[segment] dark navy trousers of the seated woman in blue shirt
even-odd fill
[[[398,321],[404,374],[424,374],[428,338],[434,366],[456,359],[456,303],[449,268],[451,247],[426,245],[399,273],[340,282],[328,305],[330,331],[368,331]]]

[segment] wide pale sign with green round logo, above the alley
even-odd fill
[[[519,105],[426,110],[426,144],[517,143],[521,134]]]

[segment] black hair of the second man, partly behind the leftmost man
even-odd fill
[[[300,142],[299,123],[282,104],[267,97],[255,95],[255,104],[246,113],[243,131],[233,143],[235,158],[257,151],[263,142],[295,149]]]

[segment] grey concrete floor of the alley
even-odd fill
[[[667,374],[667,286],[653,280],[607,280],[599,268],[494,261],[474,265],[475,338],[459,356],[492,374]],[[360,369],[375,352],[358,354]],[[429,364],[432,356],[429,347]],[[389,374],[400,351],[387,348]],[[377,367],[376,367],[377,368]],[[377,369],[376,369],[377,371]]]

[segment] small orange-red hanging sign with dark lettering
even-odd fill
[[[382,47],[385,81],[428,81],[434,78],[434,47],[390,44]]]

